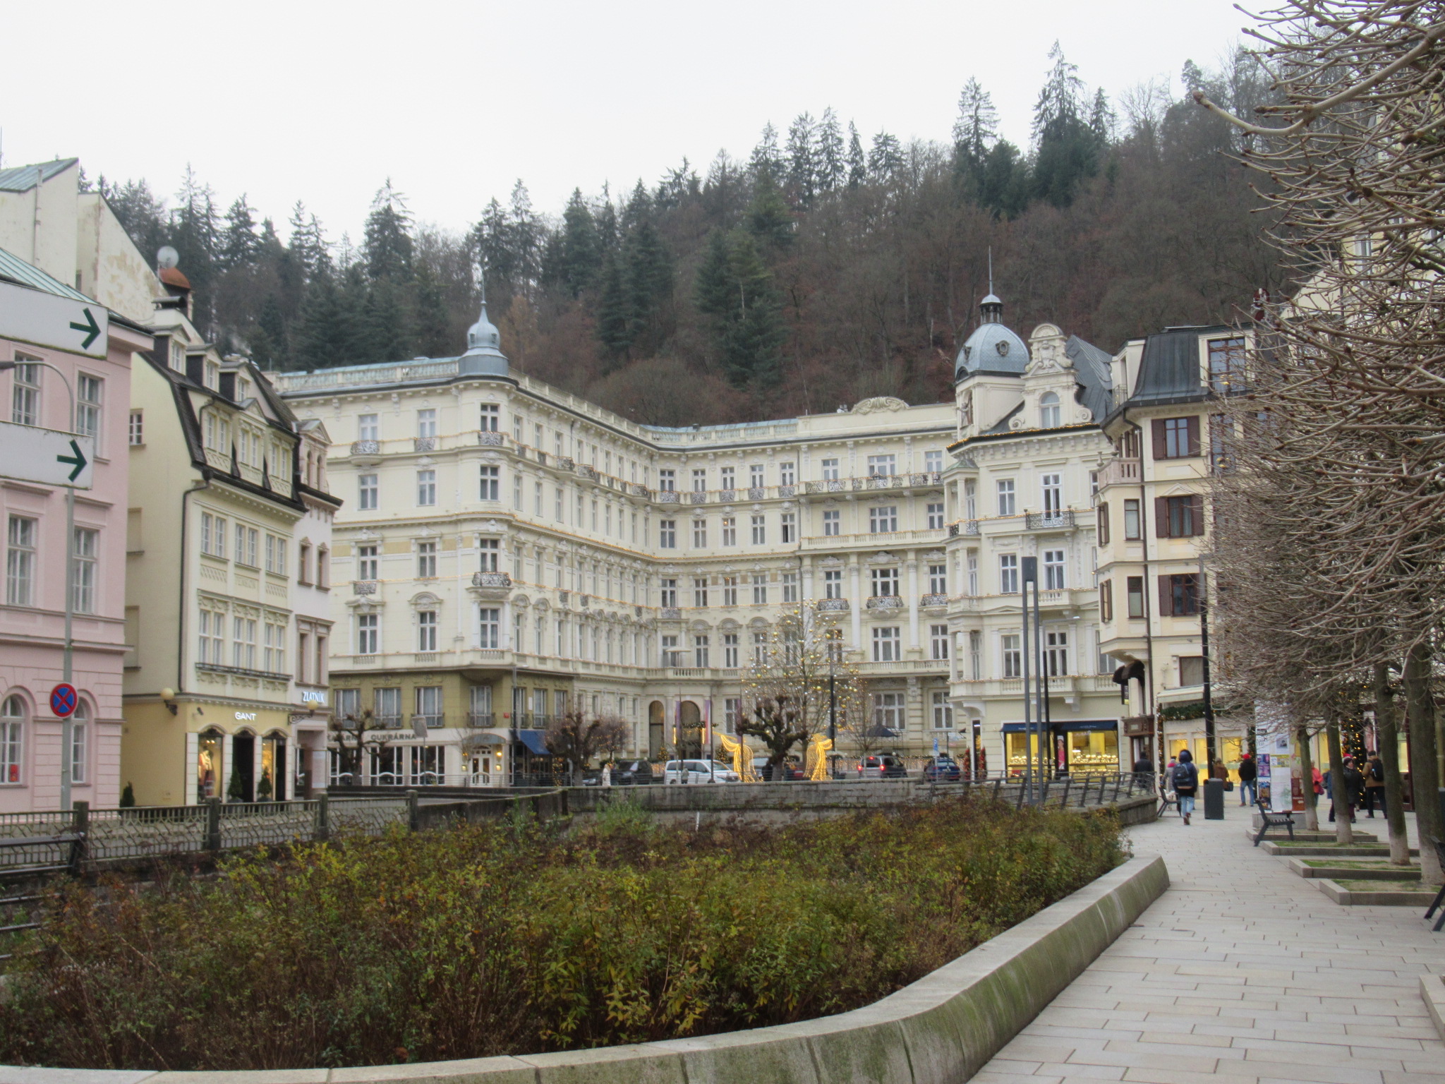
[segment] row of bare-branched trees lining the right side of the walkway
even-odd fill
[[[1445,19],[1426,0],[1292,0],[1250,33],[1279,94],[1256,108],[1260,123],[1194,97],[1248,137],[1238,158],[1267,176],[1272,240],[1308,285],[1287,306],[1259,306],[1248,399],[1230,409],[1241,452],[1224,489],[1253,497],[1222,502],[1217,539],[1234,617],[1256,626],[1231,633],[1234,650],[1282,649],[1279,665],[1251,653],[1246,681],[1269,684],[1273,668],[1298,710],[1314,705],[1329,727],[1344,700],[1371,688],[1386,708],[1389,668],[1400,668],[1416,817],[1423,837],[1441,838]],[[1289,552],[1261,552],[1266,535]],[[1259,582],[1282,568],[1282,581]],[[1290,663],[1295,676],[1277,672]],[[1393,723],[1393,707],[1383,714]],[[1392,847],[1400,830],[1392,818]],[[1432,848],[1422,867],[1428,883],[1445,880]]]

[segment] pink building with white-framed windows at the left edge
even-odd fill
[[[84,302],[100,314],[105,306],[0,249],[0,421],[71,429],[68,382],[75,429],[95,441],[94,484],[75,494],[71,681],[79,707],[71,749],[64,750],[49,695],[62,678],[65,643],[65,490],[0,477],[0,812],[58,809],[62,756],[71,757],[72,801],[120,801],[121,672],[133,646],[126,552],[140,510],[127,506],[130,366],[131,354],[149,350],[152,340],[110,312],[107,331],[87,345],[64,321],[51,331],[33,318],[39,295]],[[0,476],[14,473],[0,463]]]

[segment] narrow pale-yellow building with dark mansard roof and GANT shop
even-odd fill
[[[121,778],[140,805],[225,798],[233,775],[244,801],[296,796],[327,731],[325,431],[298,431],[182,301],[152,330],[130,389]]]

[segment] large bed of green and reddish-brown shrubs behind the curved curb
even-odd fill
[[[785,830],[458,825],[69,886],[0,1062],[267,1070],[646,1042],[844,1012],[1113,869],[1107,814],[985,801]]]

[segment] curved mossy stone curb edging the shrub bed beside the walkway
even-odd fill
[[[0,1067],[0,1084],[954,1084],[983,1068],[1168,887],[1162,857],[1130,859],[873,1005],[776,1028],[342,1070]]]

